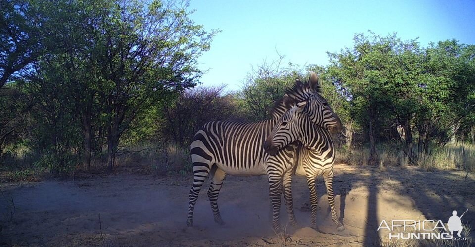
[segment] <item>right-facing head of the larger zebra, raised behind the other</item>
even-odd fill
[[[313,92],[309,97],[309,104],[304,108],[304,112],[316,125],[327,129],[335,134],[341,131],[341,120],[333,112],[325,98],[320,95],[320,85],[316,73],[311,72],[308,79],[308,87]]]

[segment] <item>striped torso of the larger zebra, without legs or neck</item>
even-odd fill
[[[276,120],[206,123],[191,143],[193,167],[210,169],[207,163],[211,163],[230,175],[266,174],[269,155],[262,151],[263,144],[275,123]],[[196,162],[200,159],[202,164]],[[195,175],[199,175],[199,172]]]

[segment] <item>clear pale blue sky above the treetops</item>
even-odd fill
[[[457,39],[475,44],[475,1],[192,0],[191,16],[206,30],[220,29],[199,58],[204,86],[239,90],[251,66],[285,55],[285,64],[328,63],[327,51],[351,47],[355,33],[397,32],[402,39]]]

